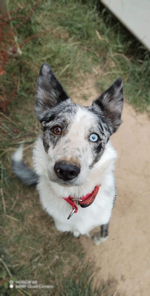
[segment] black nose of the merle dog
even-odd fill
[[[80,168],[77,165],[62,161],[55,163],[54,170],[57,177],[64,181],[72,180],[80,173]]]

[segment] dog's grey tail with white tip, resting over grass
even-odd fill
[[[15,175],[26,185],[34,185],[38,182],[38,175],[28,168],[23,162],[23,146],[12,155],[12,169]]]

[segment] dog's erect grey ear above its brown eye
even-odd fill
[[[41,121],[44,114],[58,103],[69,99],[51,67],[44,63],[39,71],[36,85],[35,112]]]

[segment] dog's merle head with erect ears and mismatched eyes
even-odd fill
[[[61,84],[44,63],[36,87],[35,112],[42,125],[51,181],[82,184],[102,156],[110,136],[121,124],[123,83],[118,78],[92,106],[70,101]]]

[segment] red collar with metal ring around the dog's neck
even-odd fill
[[[88,193],[85,196],[81,197],[80,199],[75,199],[71,196],[68,196],[66,198],[63,197],[64,200],[66,200],[66,202],[72,205],[72,212],[70,213],[67,219],[70,219],[73,213],[78,212],[77,202],[78,202],[78,205],[80,205],[81,207],[88,207],[89,205],[91,205],[95,200],[96,195],[98,194],[99,188],[100,188],[100,185],[96,185],[92,193]]]

